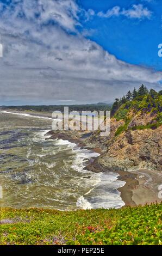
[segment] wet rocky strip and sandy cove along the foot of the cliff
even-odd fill
[[[145,205],[146,203],[150,204],[155,202],[161,202],[161,199],[158,198],[158,186],[162,184],[161,172],[153,172],[147,169],[129,172],[128,170],[122,170],[120,168],[111,169],[102,165],[99,159],[105,154],[105,149],[103,147],[97,147],[96,144],[88,143],[88,133],[75,131],[49,131],[46,133],[46,135],[51,135],[51,137],[48,137],[46,139],[58,138],[68,140],[72,143],[78,144],[78,147],[80,148],[92,150],[96,153],[99,153],[99,157],[95,157],[94,159],[85,163],[85,168],[92,172],[111,171],[118,173],[118,179],[126,182],[123,187],[118,188],[118,191],[121,192],[121,198],[125,205],[135,206],[139,204]],[[143,175],[140,175],[140,172],[145,172],[145,175],[144,173],[142,173]],[[154,176],[154,187],[152,186],[152,182],[148,182],[150,179],[152,179],[152,175]]]

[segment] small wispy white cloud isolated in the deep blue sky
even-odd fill
[[[99,17],[110,18],[112,16],[126,16],[129,19],[151,19],[152,11],[148,10],[142,4],[133,4],[130,9],[121,9],[119,6],[115,6],[112,9],[107,10],[106,13],[100,11],[97,14]]]

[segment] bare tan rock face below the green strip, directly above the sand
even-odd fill
[[[98,161],[110,170],[162,170],[162,127],[122,133]]]

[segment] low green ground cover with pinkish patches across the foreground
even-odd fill
[[[2,245],[162,245],[161,204],[57,211],[1,209]]]

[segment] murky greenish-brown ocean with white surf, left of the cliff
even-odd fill
[[[99,156],[62,139],[46,139],[52,119],[0,111],[2,207],[58,210],[121,208],[113,172],[94,173],[85,162]]]

